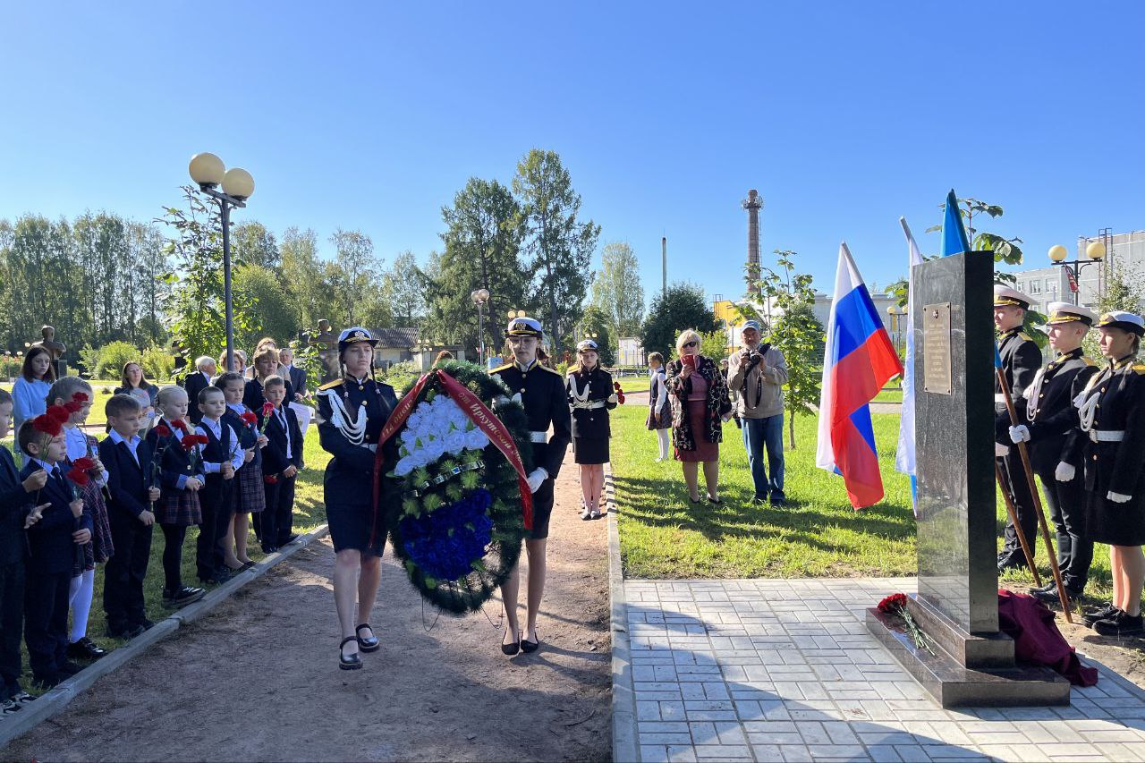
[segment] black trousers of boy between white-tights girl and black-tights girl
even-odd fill
[[[103,568],[103,611],[108,627],[123,630],[147,620],[143,579],[151,557],[151,527],[123,511],[108,519],[116,552]]]

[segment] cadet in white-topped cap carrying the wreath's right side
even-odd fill
[[[572,434],[568,398],[561,375],[546,367],[546,355],[540,348],[544,332],[540,323],[530,317],[513,318],[505,330],[508,352],[513,362],[493,369],[491,373],[504,382],[514,396],[521,396],[521,404],[529,418],[532,431],[532,463],[529,489],[532,490],[532,532],[524,541],[529,553],[529,597],[526,632],[522,635],[516,619],[516,596],[520,579],[514,568],[502,585],[505,601],[505,620],[508,629],[502,639],[502,652],[516,654],[518,651],[536,652],[540,646],[537,637],[537,613],[545,592],[545,540],[548,537],[548,517],[553,513],[553,485],[564,461]],[[548,427],[553,435],[548,436]]]

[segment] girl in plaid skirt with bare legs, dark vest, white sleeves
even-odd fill
[[[243,404],[246,391],[246,379],[234,371],[223,373],[215,379],[215,386],[222,390],[227,400],[227,411],[222,420],[238,434],[238,447],[245,451],[243,465],[235,474],[238,489],[235,493],[235,516],[230,520],[230,532],[223,536],[223,564],[236,572],[254,566],[246,556],[246,540],[250,521],[254,519],[254,529],[259,530],[259,514],[267,508],[266,490],[262,488],[262,448],[267,438],[259,432],[259,418],[254,411]],[[234,543],[231,538],[234,537]]]

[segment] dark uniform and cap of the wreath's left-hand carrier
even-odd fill
[[[339,352],[357,341],[377,345],[365,329],[347,329],[339,338]],[[378,517],[374,528],[373,464],[381,430],[397,407],[394,387],[369,376],[346,377],[322,385],[317,396],[318,440],[322,449],[333,456],[326,464],[323,500],[334,551],[357,549],[381,556],[386,524],[385,517]],[[390,439],[386,446],[387,463],[396,459],[394,443]]]

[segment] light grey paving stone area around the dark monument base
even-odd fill
[[[640,760],[1145,761],[1145,692],[1095,662],[1071,707],[943,710],[863,624],[914,590],[624,581]]]

